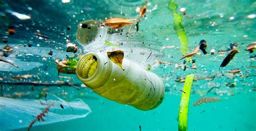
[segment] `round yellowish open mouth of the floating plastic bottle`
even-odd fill
[[[87,79],[95,74],[97,67],[97,57],[93,54],[88,54],[80,59],[80,62],[77,65],[77,73],[79,77]]]

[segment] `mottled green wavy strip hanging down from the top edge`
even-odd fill
[[[183,56],[185,56],[188,52],[188,39],[184,27],[181,25],[182,16],[177,13],[178,5],[175,3],[175,0],[170,0],[169,9],[172,10],[172,17],[174,23],[174,30],[177,33],[180,41],[180,50]],[[191,62],[191,58],[186,58],[189,62]]]

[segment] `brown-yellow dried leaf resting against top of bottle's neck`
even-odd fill
[[[118,66],[120,66],[122,68],[122,70],[124,70],[124,68],[122,67],[122,63],[123,63],[123,59],[124,59],[123,51],[107,52],[107,57],[109,57],[109,59],[111,61],[113,61],[113,63],[117,64]]]

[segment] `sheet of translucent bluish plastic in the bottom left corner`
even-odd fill
[[[47,125],[60,121],[68,121],[87,116],[91,109],[82,100],[76,99],[68,103],[55,95],[47,96],[47,104],[55,104],[50,107],[50,111],[43,117],[45,121],[36,121],[33,126]],[[29,127],[30,122],[47,107],[45,100],[33,99],[10,99],[0,97],[0,127],[1,130],[14,130]],[[63,106],[60,107],[60,105]],[[33,127],[32,127],[33,128]]]

